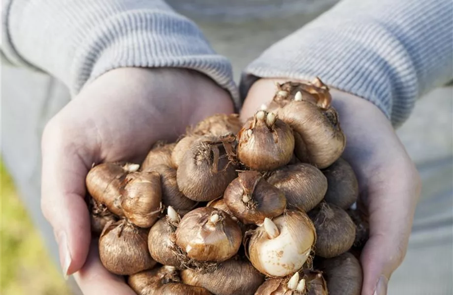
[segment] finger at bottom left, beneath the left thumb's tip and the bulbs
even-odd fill
[[[84,295],[135,295],[123,277],[110,273],[102,266],[96,241],[92,242],[85,265],[74,273],[74,279]]]

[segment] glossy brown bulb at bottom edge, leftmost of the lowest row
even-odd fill
[[[180,281],[175,267],[161,266],[130,275],[128,285],[138,295],[158,295],[163,285]]]

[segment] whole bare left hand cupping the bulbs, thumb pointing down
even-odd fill
[[[91,247],[85,177],[93,163],[140,163],[158,140],[215,113],[231,113],[227,92],[183,69],[121,68],[97,78],[47,124],[42,137],[44,216],[54,229],[65,275],[84,294],[134,295]],[[87,260],[88,257],[88,260]]]

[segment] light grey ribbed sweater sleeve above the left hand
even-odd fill
[[[228,59],[191,20],[162,0],[5,0],[1,51],[51,74],[77,94],[118,67],[181,67],[204,73],[239,95]]]

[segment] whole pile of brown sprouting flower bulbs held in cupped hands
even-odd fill
[[[138,295],[358,295],[366,222],[329,89],[278,84],[241,122],[214,115],[141,165],[86,184],[99,256]]]

